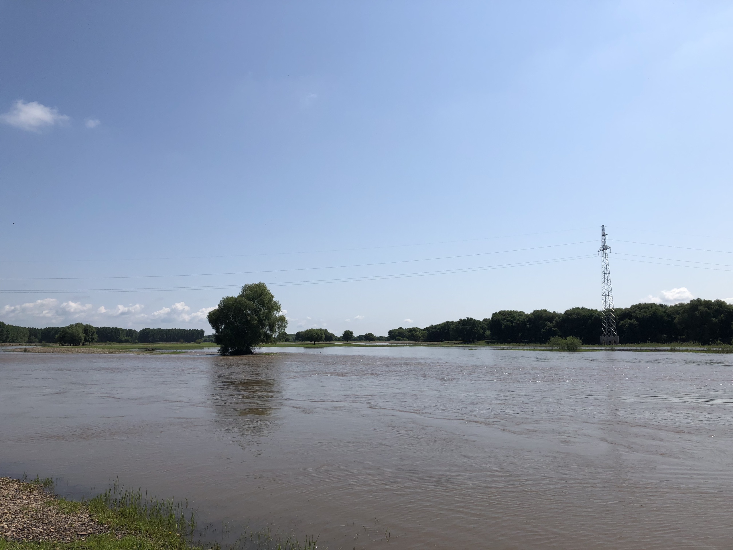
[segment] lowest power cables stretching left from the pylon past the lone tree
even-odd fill
[[[360,282],[360,281],[378,281],[385,279],[404,279],[407,277],[418,277],[418,276],[432,276],[432,275],[447,275],[447,274],[459,274],[459,273],[471,273],[474,271],[490,271],[493,269],[507,269],[515,267],[524,267],[531,265],[544,265],[548,263],[561,263],[570,262],[574,260],[586,260],[594,258],[595,254],[584,254],[582,256],[570,256],[562,258],[553,258],[550,260],[533,260],[531,262],[520,262],[520,263],[509,263],[509,264],[498,264],[498,265],[482,265],[474,268],[460,268],[460,269],[448,269],[442,271],[416,271],[413,273],[404,274],[393,274],[393,275],[375,275],[375,276],[363,276],[363,277],[345,277],[342,279],[312,279],[305,281],[284,281],[284,282],[268,282],[267,285],[273,287],[282,286],[295,286],[295,285],[325,285],[328,283],[336,282]],[[181,291],[181,290],[226,290],[229,288],[239,288],[240,285],[206,285],[198,287],[142,287],[142,288],[96,288],[96,289],[55,289],[55,288],[44,288],[35,290],[0,290],[3,294],[30,294],[30,293],[116,293],[116,292],[166,292],[166,291]]]

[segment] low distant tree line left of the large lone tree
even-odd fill
[[[81,336],[79,336],[81,334]],[[81,340],[80,340],[81,338]],[[39,344],[59,342],[81,345],[92,342],[196,342],[204,340],[204,331],[196,329],[120,329],[114,326],[92,326],[73,323],[68,326],[49,326],[45,329],[8,325],[0,321],[0,343]]]

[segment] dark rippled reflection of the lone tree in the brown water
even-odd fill
[[[211,403],[216,423],[242,436],[272,428],[281,395],[276,355],[216,357],[211,366]]]

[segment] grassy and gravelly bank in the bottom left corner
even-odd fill
[[[50,478],[0,478],[0,550],[221,550],[196,531],[186,502],[161,500],[115,484],[85,501],[55,496]],[[238,549],[314,550],[271,529],[245,529]]]

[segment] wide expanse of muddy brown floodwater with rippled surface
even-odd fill
[[[732,367],[487,348],[2,352],[0,474],[77,493],[119,477],[187,498],[225,543],[271,524],[331,549],[729,549]]]

